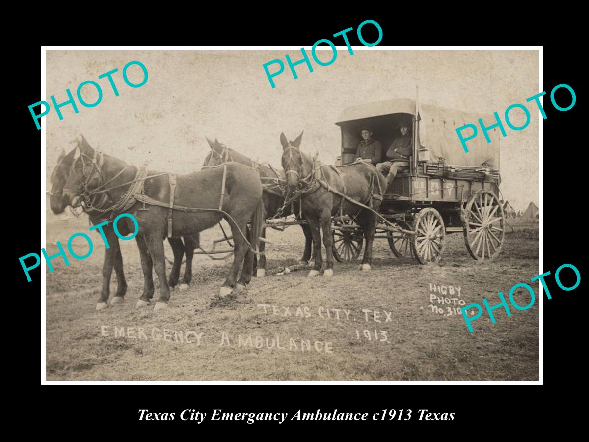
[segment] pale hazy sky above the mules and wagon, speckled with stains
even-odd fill
[[[310,53],[310,48],[307,48]],[[538,93],[537,51],[386,51],[360,50],[350,55],[343,47],[326,67],[313,63],[313,72],[297,66],[298,79],[289,68],[270,87],[262,68],[288,53],[300,60],[300,51],[47,51],[47,96],[67,100],[85,80],[97,81],[103,97],[95,107],[74,114],[63,107],[64,120],[51,110],[47,126],[47,182],[62,148],[75,147],[84,134],[92,147],[150,168],[176,173],[199,169],[209,152],[205,136],[241,153],[280,167],[280,133],[290,140],[305,130],[301,148],[319,151],[319,159],[333,164],[340,154],[340,129],[334,123],[343,108],[389,98],[415,98],[423,103],[464,111],[503,116],[512,103],[527,105],[530,125],[521,131],[506,126],[501,138],[501,191],[516,210],[530,201],[538,204],[538,124],[534,103],[525,98]],[[330,52],[320,54],[329,60]],[[130,88],[122,77],[124,65],[141,61],[149,72],[143,87]],[[311,59],[312,60],[312,59]],[[286,64],[286,62],[285,62]],[[120,96],[107,78],[113,75]],[[272,67],[271,69],[275,69]],[[133,83],[143,78],[133,66]],[[92,103],[91,86],[82,98]],[[77,100],[77,99],[76,99]],[[547,103],[545,101],[545,103]],[[514,112],[515,113],[515,112]],[[474,123],[474,122],[473,122]],[[519,125],[518,118],[514,124]],[[479,132],[479,136],[482,133]]]

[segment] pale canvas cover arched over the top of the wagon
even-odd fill
[[[447,164],[460,166],[481,166],[489,164],[493,169],[499,170],[499,137],[501,131],[495,127],[489,130],[491,143],[487,144],[485,135],[478,124],[482,118],[486,127],[497,123],[492,115],[463,112],[436,106],[434,104],[419,103],[419,141],[421,146],[427,147],[431,153],[432,161],[444,157]],[[359,120],[389,114],[415,115],[415,100],[403,98],[398,100],[383,100],[366,103],[346,108],[340,114],[338,125],[346,121]],[[456,128],[464,124],[477,126],[477,136],[466,142],[468,153],[462,148],[462,144],[456,133]],[[466,138],[472,134],[472,128],[462,131]]]

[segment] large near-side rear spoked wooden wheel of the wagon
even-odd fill
[[[481,189],[462,211],[466,249],[476,260],[493,259],[505,239],[503,206],[491,190]]]

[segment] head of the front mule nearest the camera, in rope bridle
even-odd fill
[[[77,141],[77,146],[70,154],[72,163],[66,173],[62,194],[72,207],[78,207],[82,192],[93,189],[100,183],[102,156],[98,157],[98,152],[92,149],[84,136],[81,141]]]

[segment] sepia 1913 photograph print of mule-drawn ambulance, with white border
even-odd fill
[[[539,380],[539,51],[351,49],[45,51],[47,381]]]

